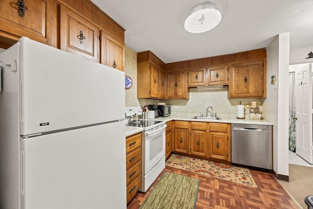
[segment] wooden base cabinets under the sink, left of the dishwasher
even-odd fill
[[[230,123],[175,121],[174,152],[230,162]]]

